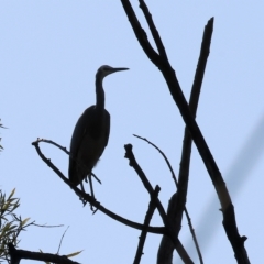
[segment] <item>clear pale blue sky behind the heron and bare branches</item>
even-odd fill
[[[264,4],[262,1],[146,1],[186,97],[189,97],[204,26],[215,16],[197,121],[233,198],[238,227],[252,263],[262,258],[264,185]],[[145,25],[138,1],[133,1]],[[147,29],[146,29],[147,30]],[[147,31],[148,32],[148,31]],[[151,36],[150,36],[151,37]],[[131,263],[140,232],[101,212],[91,216],[75,194],[41,161],[36,138],[69,145],[81,112],[95,103],[95,74],[102,64],[129,67],[105,80],[111,113],[108,147],[95,168],[102,185],[97,199],[110,210],[142,222],[148,195],[124,160],[132,143],[138,162],[167,207],[175,191],[161,155],[132,136],[147,138],[178,172],[184,122],[158,69],[139,45],[120,1],[0,1],[0,118],[4,151],[1,188],[16,188],[21,215],[68,229],[61,253],[84,252],[81,263]],[[153,43],[153,42],[152,42]],[[43,152],[67,175],[68,157],[52,145]],[[235,263],[222,229],[219,202],[196,147],[187,208],[199,233],[206,263]],[[204,217],[204,218],[202,218]],[[206,222],[207,219],[207,222]],[[216,227],[210,223],[216,219]],[[206,228],[202,228],[206,223]],[[153,226],[161,226],[157,213]],[[30,228],[21,248],[56,253],[65,230]],[[209,242],[206,239],[215,234]],[[180,240],[189,243],[183,222]],[[161,238],[147,235],[142,263],[155,263]],[[189,249],[188,249],[189,250]],[[193,260],[196,253],[189,250]],[[217,262],[216,262],[217,260]],[[23,263],[30,263],[23,261]],[[32,263],[32,262],[31,262]],[[182,263],[175,257],[175,263]]]

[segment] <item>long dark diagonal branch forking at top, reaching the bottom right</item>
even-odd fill
[[[197,122],[195,121],[193,113],[190,112],[188,103],[184,97],[184,94],[183,94],[179,82],[177,80],[175,70],[173,69],[169,62],[167,61],[167,55],[166,55],[165,48],[164,48],[165,55],[160,54],[158,58],[157,58],[156,54],[153,55],[153,53],[150,52],[153,48],[150,47],[151,44],[148,42],[147,42],[147,44],[145,44],[147,38],[145,37],[145,35],[143,36],[143,34],[142,34],[143,30],[134,14],[134,11],[133,11],[129,0],[121,0],[121,2],[123,4],[124,11],[130,20],[131,26],[134,30],[135,36],[136,36],[138,41],[140,42],[141,46],[143,47],[145,54],[162,72],[162,74],[167,82],[168,89],[174,98],[174,101],[176,102],[176,105],[180,111],[180,114],[191,134],[191,138],[193,138],[193,140],[198,148],[198,152],[206,165],[206,168],[211,177],[212,184],[216,188],[218,198],[221,204],[221,209],[222,209],[222,213],[223,213],[223,227],[224,227],[226,233],[231,242],[231,245],[233,248],[235,258],[237,258],[238,263],[240,263],[240,264],[249,264],[250,260],[249,260],[246,250],[244,248],[245,237],[241,237],[239,234],[239,230],[238,230],[237,221],[235,221],[234,208],[233,208],[229,191],[227,189],[226,183],[224,183],[224,180],[221,176],[221,173],[217,166],[217,163],[216,163],[216,161],[215,161],[202,134],[201,134],[201,131],[200,131]],[[141,0],[140,2],[143,3],[144,1]],[[145,14],[146,21],[150,21],[150,19],[152,20],[150,12],[144,13],[144,14]],[[152,23],[148,23],[148,26],[151,29],[152,34],[153,34],[153,32],[155,32],[155,34],[158,35],[158,32],[157,32],[156,26],[153,23],[153,21],[152,21]],[[158,42],[156,41],[157,40],[156,35],[153,35],[153,38],[155,41],[155,44],[158,46],[161,44],[160,43],[161,37],[158,36]]]

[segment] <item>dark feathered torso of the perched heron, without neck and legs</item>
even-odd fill
[[[69,180],[79,185],[89,175],[108,144],[110,133],[110,114],[105,109],[102,117],[98,117],[96,106],[85,110],[76,123],[70,143]],[[78,162],[77,162],[78,161]]]

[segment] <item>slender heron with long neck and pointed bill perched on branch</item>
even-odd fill
[[[96,166],[110,133],[110,114],[105,108],[103,78],[110,74],[129,68],[113,68],[108,65],[99,67],[96,74],[96,105],[88,107],[78,119],[70,141],[68,177],[75,185],[81,186],[89,179],[91,196],[95,198],[91,183],[92,168]],[[94,175],[95,176],[95,175]]]

